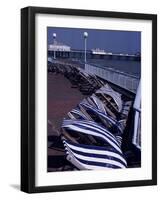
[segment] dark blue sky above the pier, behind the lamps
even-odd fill
[[[53,43],[53,33],[58,42],[72,49],[84,49],[83,33],[88,32],[87,49],[100,48],[113,53],[133,54],[141,50],[141,32],[112,31],[79,28],[48,27],[48,44]]]

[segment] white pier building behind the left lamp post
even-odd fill
[[[71,47],[62,43],[58,43],[57,41],[54,42],[54,44],[48,45],[49,51],[71,51]]]

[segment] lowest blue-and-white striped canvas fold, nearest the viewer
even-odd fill
[[[100,170],[126,168],[123,155],[108,147],[75,144],[63,139],[67,159],[78,169]]]

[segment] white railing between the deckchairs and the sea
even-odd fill
[[[85,64],[85,70],[134,93],[136,93],[140,81],[137,76],[111,68]]]

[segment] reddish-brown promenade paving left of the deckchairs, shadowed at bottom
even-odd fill
[[[84,98],[62,74],[48,73],[48,172],[72,170],[58,136],[63,118]],[[62,149],[62,150],[60,150]]]

